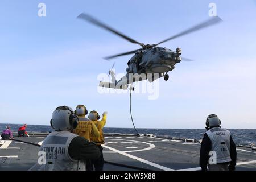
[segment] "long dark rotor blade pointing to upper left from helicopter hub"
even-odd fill
[[[98,27],[104,28],[105,30],[110,31],[110,32],[114,33],[115,35],[121,36],[122,38],[128,40],[128,41],[131,42],[131,43],[143,45],[142,43],[140,43],[140,42],[138,42],[138,41],[136,41],[136,40],[134,40],[134,39],[129,38],[128,36],[122,34],[121,32],[118,32],[117,30],[114,30],[113,28],[111,28],[111,27],[109,27],[108,25],[106,25],[106,24],[100,22],[99,20],[93,18],[92,16],[90,16],[90,15],[88,15],[88,14],[81,13],[79,16],[77,16],[77,18],[81,18],[81,19],[83,19],[83,20],[86,20],[86,21],[88,21],[88,22],[90,22],[90,23],[95,24],[95,25],[98,26]]]

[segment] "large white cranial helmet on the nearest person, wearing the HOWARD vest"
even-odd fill
[[[75,129],[79,119],[71,107],[60,106],[52,113],[51,126],[55,130],[67,131]]]

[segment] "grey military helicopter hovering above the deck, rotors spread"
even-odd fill
[[[175,64],[180,63],[181,60],[184,61],[193,61],[191,59],[186,59],[180,57],[181,48],[176,48],[175,51],[172,51],[168,48],[159,47],[159,44],[167,42],[169,40],[179,38],[180,36],[190,34],[191,32],[198,31],[202,28],[212,26],[213,24],[219,23],[222,19],[218,16],[213,16],[212,18],[197,24],[191,28],[188,28],[185,31],[180,32],[170,38],[164,39],[161,42],[156,44],[143,44],[122,34],[121,32],[114,30],[114,28],[106,25],[105,23],[100,22],[99,20],[93,18],[92,16],[81,13],[77,18],[90,22],[98,27],[104,28],[112,32],[115,35],[121,36],[123,39],[128,40],[131,43],[139,44],[141,48],[134,51],[119,53],[117,55],[104,57],[106,60],[114,59],[115,57],[125,56],[133,54],[133,57],[128,61],[126,68],[126,75],[123,76],[119,81],[115,79],[113,72],[113,67],[109,71],[109,75],[112,77],[112,82],[103,82],[101,81],[99,86],[113,89],[127,89],[129,84],[133,84],[135,81],[148,80],[150,82],[155,81],[160,77],[164,77],[164,80],[168,80],[168,72],[172,71],[175,68]],[[108,76],[109,76],[108,75]],[[130,90],[134,90],[133,87],[130,87]]]

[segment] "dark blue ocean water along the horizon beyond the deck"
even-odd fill
[[[7,124],[0,123],[0,131],[5,129]],[[17,131],[22,125],[9,124],[12,131]],[[27,131],[53,131],[51,126],[47,125],[28,125]],[[191,138],[200,140],[203,138],[205,129],[137,129],[140,134],[154,134],[161,137],[177,137],[177,138]],[[229,129],[232,138],[236,144],[256,144],[256,129]],[[105,133],[127,133],[136,134],[133,128],[114,128],[105,127]]]

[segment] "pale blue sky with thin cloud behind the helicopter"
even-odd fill
[[[46,4],[46,17],[38,4]],[[139,48],[76,19],[86,12],[143,43],[157,43],[209,18],[216,3],[222,23],[161,44],[195,59],[159,82],[159,98],[133,94],[135,126],[202,128],[215,113],[228,128],[256,125],[256,1],[1,1],[0,123],[49,125],[60,105],[108,111],[106,127],[133,127],[129,94],[97,92],[100,73],[115,61],[124,73]]]

